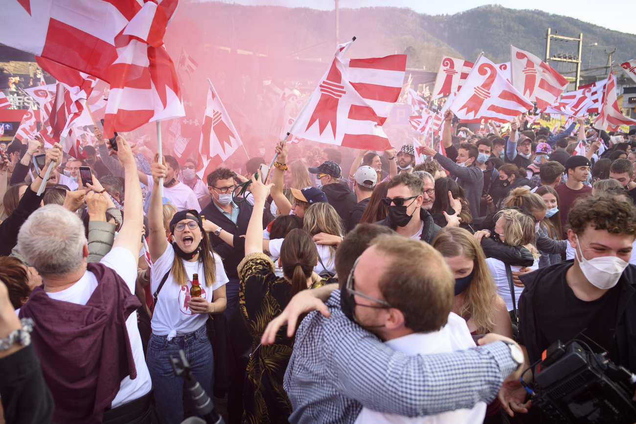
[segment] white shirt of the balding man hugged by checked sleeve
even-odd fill
[[[471,332],[464,318],[455,313],[448,314],[448,322],[439,331],[429,333],[415,332],[408,336],[386,341],[393,350],[406,355],[429,355],[431,353],[448,353],[472,348],[475,346]],[[396,414],[385,414],[363,407],[357,416],[356,424],[361,423],[427,423],[427,424],[473,424],[481,423],[486,416],[486,402],[477,402],[471,409],[455,409],[441,414],[409,418]]]

